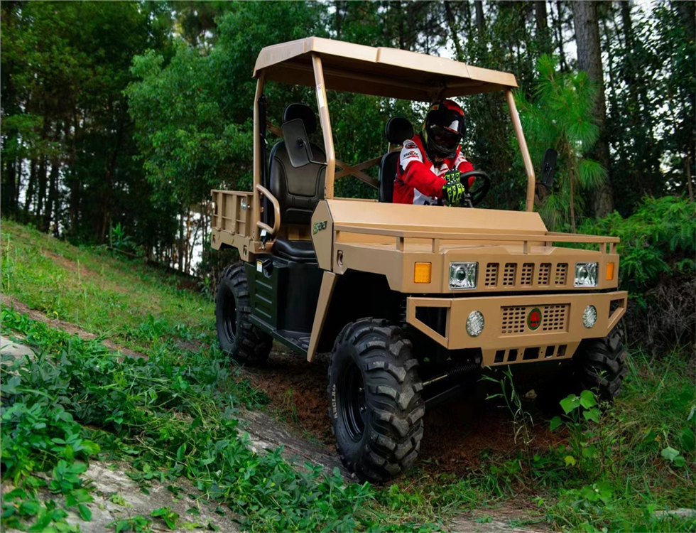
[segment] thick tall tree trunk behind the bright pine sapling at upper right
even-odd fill
[[[599,140],[594,147],[594,154],[599,163],[609,171],[609,145],[606,139],[605,122],[607,104],[604,100],[604,76],[602,75],[602,53],[599,48],[599,21],[597,20],[597,2],[575,0],[572,3],[575,21],[575,41],[577,42],[577,66],[587,72],[590,80],[597,84],[597,100],[594,104],[594,116],[599,126]],[[594,215],[606,217],[614,210],[614,196],[611,181],[601,185],[594,195]]]

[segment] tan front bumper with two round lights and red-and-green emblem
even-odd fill
[[[406,321],[448,350],[480,348],[483,365],[509,365],[539,360],[570,359],[580,341],[609,334],[626,311],[626,291],[592,294],[534,294],[433,298],[409,296]],[[587,306],[597,308],[592,328],[582,324]],[[435,309],[433,309],[435,308]],[[436,311],[439,310],[439,311]],[[541,320],[532,329],[532,310]],[[469,313],[483,313],[482,333],[467,333]]]

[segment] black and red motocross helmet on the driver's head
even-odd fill
[[[423,122],[423,140],[428,154],[436,158],[450,158],[466,133],[464,111],[452,100],[435,102],[428,109]]]

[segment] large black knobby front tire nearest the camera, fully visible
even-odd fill
[[[329,367],[329,416],[346,467],[380,483],[418,457],[425,407],[418,360],[401,328],[362,318],[336,339]]]

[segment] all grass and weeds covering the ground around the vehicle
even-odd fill
[[[21,334],[38,353],[21,367],[3,360],[0,370],[2,479],[16,487],[4,497],[4,527],[68,531],[67,510],[89,518],[82,467],[101,459],[130,463],[144,488],[185,475],[252,531],[428,531],[461,512],[477,512],[481,523],[495,519],[496,506],[513,505],[509,500],[539,514],[521,525],[696,528],[693,519],[653,516],[694,507],[693,362],[678,352],[660,360],[632,352],[619,400],[597,411],[597,421],[582,416],[594,407],[570,411],[553,447],[483,453],[463,477],[417,468],[376,488],[311,465],[298,470],[279,451],[250,451],[236,410],[261,409],[266,398],[215,347],[212,303],[203,296],[176,289],[170,276],[138,262],[5,220],[0,250],[3,294],[99,335],[82,340],[3,307],[4,335]],[[117,357],[101,340],[148,358]],[[288,421],[292,395],[275,406]],[[511,433],[542,431],[515,410]],[[46,490],[65,503],[41,497]],[[157,511],[158,519],[176,522],[168,510]],[[112,527],[148,531],[153,519]]]

